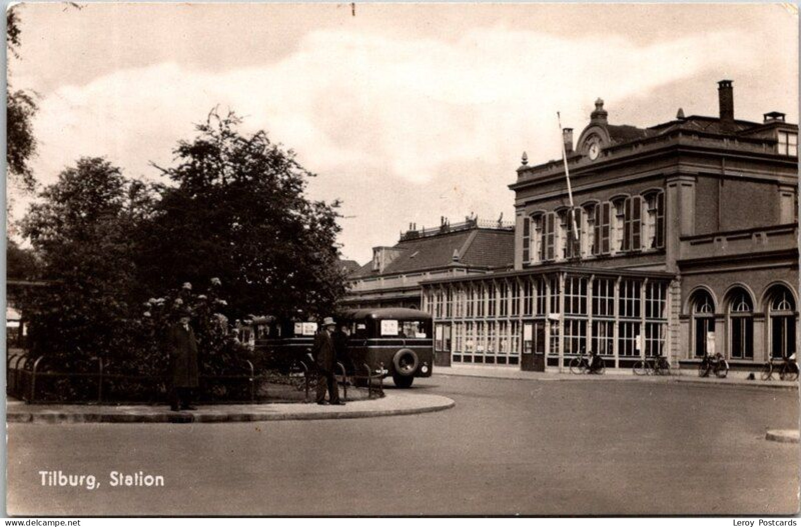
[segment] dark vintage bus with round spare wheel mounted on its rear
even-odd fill
[[[365,308],[343,312],[336,321],[350,328],[348,351],[356,368],[367,364],[373,373],[392,376],[398,388],[409,388],[415,377],[431,376],[434,350],[428,313]]]

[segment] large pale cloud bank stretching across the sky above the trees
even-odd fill
[[[713,66],[755,69],[756,44],[729,32],[638,46],[505,26],[449,41],[312,31],[264,67],[209,72],[162,62],[63,86],[41,101],[35,169],[52,183],[79,156],[106,155],[127,175],[152,178],[149,161],[171,163],[192,123],[230,107],[247,130],[268,131],[319,174],[313,197],[344,199],[344,214],[357,216],[343,220],[344,253],[364,262],[412,221],[472,211],[511,218],[506,185],[521,151],[533,163],[558,155],[557,110],[580,130],[602,95],[614,122],[615,103],[658,86]],[[655,115],[642,108],[644,124]]]

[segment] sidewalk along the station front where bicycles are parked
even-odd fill
[[[465,366],[456,365],[450,367],[437,366],[434,368],[434,375],[444,376],[464,376],[481,377],[485,379],[509,379],[509,380],[541,380],[541,381],[566,381],[566,382],[656,382],[656,383],[686,383],[686,384],[706,384],[706,385],[727,385],[743,388],[757,389],[780,389],[798,390],[798,381],[785,380],[747,380],[745,375],[739,372],[729,372],[725,379],[717,377],[699,377],[691,370],[671,371],[670,375],[643,375],[638,376],[630,371],[610,372],[609,369],[603,375],[574,375],[568,371],[558,372],[522,372],[519,367],[505,366]],[[759,374],[757,374],[759,376]]]

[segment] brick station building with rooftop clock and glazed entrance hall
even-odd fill
[[[509,270],[422,280],[437,362],[565,368],[595,349],[607,368],[663,354],[694,368],[720,352],[733,370],[790,356],[798,341],[798,126],[771,111],[638,128],[601,99],[562,159],[529,166],[515,193]],[[574,222],[571,220],[575,218]]]

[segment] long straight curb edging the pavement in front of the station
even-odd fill
[[[494,379],[494,380],[533,380],[541,382],[585,382],[585,381],[602,381],[602,382],[651,382],[651,383],[685,383],[685,384],[698,384],[702,386],[725,386],[732,388],[756,388],[756,389],[769,389],[769,390],[787,390],[797,391],[799,389],[798,383],[789,384],[767,384],[759,381],[731,381],[731,380],[703,380],[701,378],[694,378],[690,376],[634,376],[634,375],[607,375],[607,376],[589,376],[589,375],[574,375],[574,376],[542,376],[542,377],[528,377],[528,376],[493,376],[487,373],[466,373],[466,372],[442,372],[437,371],[435,375],[453,376],[453,377],[473,377],[476,379]]]

